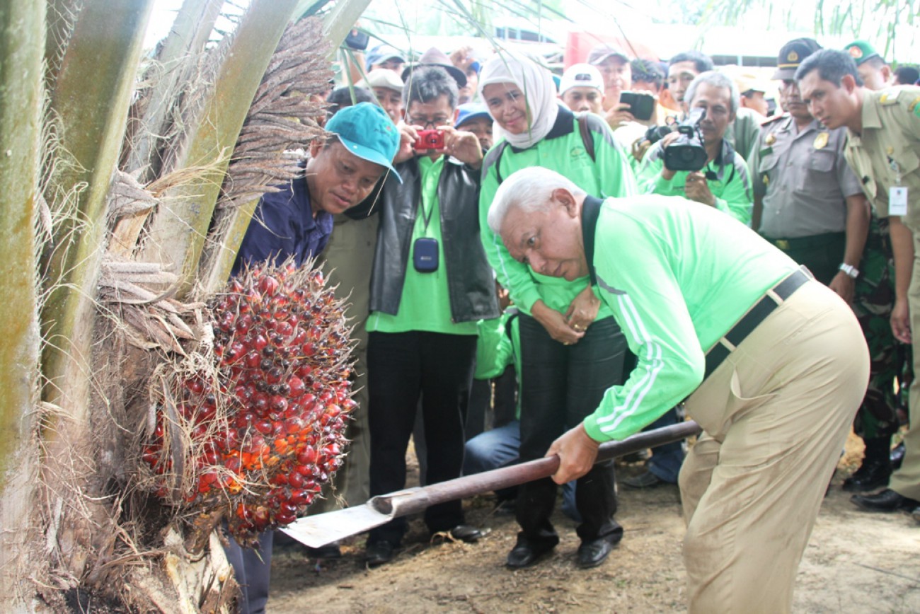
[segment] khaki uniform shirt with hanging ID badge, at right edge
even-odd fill
[[[891,187],[907,188],[903,222],[920,232],[920,87],[863,92],[862,133],[849,131],[846,160],[880,218],[887,218]]]

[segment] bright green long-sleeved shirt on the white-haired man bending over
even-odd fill
[[[707,350],[799,267],[730,216],[686,199],[607,199],[594,236],[602,300],[638,358],[584,420],[597,441],[627,438],[694,392]]]

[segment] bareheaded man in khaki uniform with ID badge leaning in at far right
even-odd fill
[[[880,218],[888,218],[895,266],[891,330],[904,343],[920,342],[920,87],[872,92],[862,86],[845,51],[822,50],[796,71],[803,101],[830,129],[848,131],[846,160]],[[917,335],[911,331],[917,330]],[[914,370],[918,353],[914,347]],[[903,464],[878,495],[854,495],[870,511],[913,510],[920,521],[920,382],[911,388],[911,428],[904,436]]]

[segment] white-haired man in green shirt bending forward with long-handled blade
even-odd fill
[[[849,307],[711,207],[602,201],[544,168],[508,177],[489,227],[510,254],[590,275],[638,357],[626,383],[558,438],[553,479],[587,472],[686,398],[704,429],[681,471],[691,612],[787,612],[796,568],[868,381]]]

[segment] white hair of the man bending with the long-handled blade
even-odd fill
[[[585,194],[585,191],[567,177],[542,166],[530,166],[515,171],[501,182],[495,198],[489,205],[489,229],[500,234],[501,224],[512,209],[526,212],[549,210],[553,192],[558,188],[569,190],[573,196]]]

